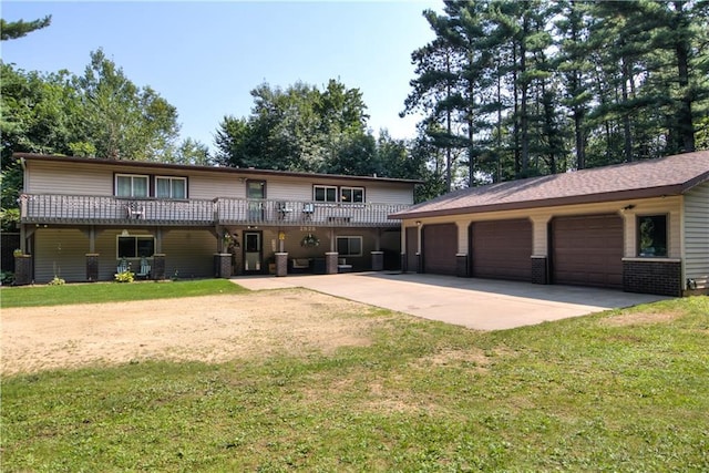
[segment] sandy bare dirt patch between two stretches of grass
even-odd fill
[[[368,306],[302,289],[2,310],[2,373],[367,346]]]

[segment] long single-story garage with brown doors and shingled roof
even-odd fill
[[[456,225],[458,276],[679,296],[709,294],[708,197],[699,151],[459,189],[391,217]],[[451,235],[429,236],[428,270],[452,274]]]

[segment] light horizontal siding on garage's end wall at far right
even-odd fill
[[[685,280],[709,288],[709,183],[685,195]]]

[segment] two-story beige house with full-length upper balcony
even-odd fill
[[[398,267],[418,181],[18,153],[22,284]],[[123,265],[123,266],[122,266]]]

